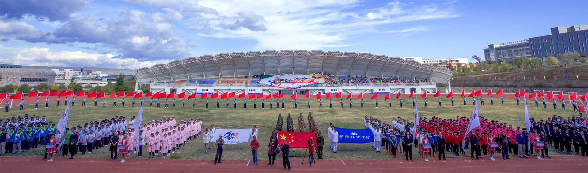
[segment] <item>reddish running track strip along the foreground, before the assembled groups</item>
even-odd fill
[[[290,159],[292,172],[588,172],[588,158],[579,155],[554,156],[547,160],[534,157],[497,161],[482,158],[472,161],[470,158],[447,158],[444,160],[415,159],[415,161],[395,160],[318,160],[309,167],[301,160]],[[276,165],[252,165],[248,160],[228,160],[213,165],[211,160],[174,160],[150,159],[136,160],[129,158],[125,163],[109,161],[106,158],[55,158],[46,162],[39,157],[1,157],[0,172],[289,172],[282,169],[282,160]],[[307,162],[308,163],[308,162]]]

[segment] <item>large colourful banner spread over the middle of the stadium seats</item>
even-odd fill
[[[306,76],[294,74],[263,75],[259,83],[282,89],[298,89],[299,87],[305,87],[309,84],[324,84],[325,77],[323,77],[322,74]]]

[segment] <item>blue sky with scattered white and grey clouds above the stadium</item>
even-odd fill
[[[587,25],[588,1],[0,0],[0,62],[130,69],[252,50],[423,59]]]

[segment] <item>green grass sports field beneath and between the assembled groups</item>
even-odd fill
[[[459,97],[457,97],[459,98]],[[259,158],[260,160],[267,159],[267,145],[269,143],[269,137],[273,130],[273,127],[276,125],[276,121],[278,119],[278,114],[282,113],[284,117],[284,129],[286,128],[286,117],[288,113],[292,113],[294,126],[298,128],[298,116],[302,113],[306,121],[306,117],[308,116],[309,111],[312,112],[312,115],[315,119],[316,125],[319,127],[320,131],[323,131],[323,137],[325,137],[325,151],[324,151],[324,158],[326,160],[346,160],[346,159],[385,159],[385,158],[392,158],[391,155],[387,154],[385,148],[382,147],[382,153],[375,153],[375,150],[370,147],[370,144],[339,144],[338,151],[339,154],[332,154],[332,151],[329,150],[328,146],[328,135],[326,134],[326,129],[328,128],[329,123],[333,123],[336,127],[342,128],[364,128],[363,126],[363,117],[364,116],[373,116],[378,118],[379,120],[385,121],[390,123],[390,120],[393,117],[403,117],[407,119],[411,119],[415,108],[412,107],[412,101],[408,98],[401,98],[404,100],[404,107],[399,107],[399,102],[396,99],[393,99],[392,108],[387,107],[387,101],[380,100],[379,108],[375,108],[375,101],[365,99],[365,108],[359,108],[360,101],[357,99],[353,99],[353,108],[349,108],[349,101],[343,100],[343,107],[339,108],[339,99],[333,100],[333,108],[329,108],[328,100],[323,100],[323,108],[318,108],[318,101],[311,100],[311,107],[308,108],[305,99],[299,100],[298,108],[293,109],[293,101],[290,99],[285,99],[286,108],[273,108],[269,109],[268,102],[266,102],[266,108],[260,109],[261,103],[258,101],[258,108],[253,109],[253,101],[248,99],[248,108],[243,108],[243,99],[238,99],[237,108],[233,108],[232,99],[229,104],[230,108],[223,108],[226,107],[226,100],[220,101],[220,109],[216,109],[216,99],[212,100],[210,103],[211,108],[203,108],[205,107],[205,100],[206,99],[197,99],[198,103],[196,106],[198,108],[191,108],[192,101],[186,101],[186,107],[182,108],[181,99],[179,99],[179,104],[176,104],[178,108],[156,108],[156,101],[153,104],[154,107],[145,107],[145,111],[143,111],[143,124],[146,121],[161,119],[163,116],[175,116],[178,120],[185,120],[187,118],[201,118],[203,121],[202,127],[206,128],[210,124],[215,124],[216,128],[252,128],[253,125],[257,125],[259,128],[259,140],[260,140],[260,150],[259,150]],[[433,99],[432,97],[429,98],[429,106],[425,107],[423,101],[419,98],[419,116],[420,117],[440,117],[440,118],[455,118],[456,116],[466,116],[470,117],[472,115],[472,111],[474,106],[472,106],[471,99],[468,99],[467,106],[463,106],[463,101],[456,99],[456,106],[450,106],[451,101],[449,99],[442,99],[442,106],[437,106],[437,99]],[[488,118],[489,120],[498,120],[500,123],[508,123],[513,124],[513,126],[522,126],[524,125],[523,117],[524,117],[524,108],[521,101],[520,106],[516,105],[516,101],[513,99],[506,99],[505,106],[500,106],[499,100],[496,101],[493,106],[490,106],[489,100],[486,100],[485,106],[480,106],[480,116]],[[162,101],[163,107],[164,101]],[[171,103],[171,101],[170,101]],[[120,103],[119,103],[120,104]],[[127,103],[130,105],[130,102]],[[138,103],[139,104],[139,103]],[[541,104],[541,103],[539,103]],[[18,106],[12,107],[9,113],[0,113],[0,117],[2,119],[9,118],[9,117],[17,117],[17,116],[24,116],[24,114],[35,114],[37,116],[46,116],[48,121],[53,121],[57,124],[58,118],[63,114],[65,107],[55,107],[56,103],[50,103],[49,108],[38,108],[34,109],[34,105],[27,105],[25,106],[25,110],[17,111]],[[92,105],[92,106],[88,106]],[[93,103],[86,104],[86,107],[81,107],[81,103],[76,104],[75,107],[72,107],[69,113],[69,125],[68,127],[73,127],[76,125],[83,125],[84,123],[88,123],[89,121],[100,121],[105,118],[112,118],[114,116],[125,116],[127,120],[129,120],[132,116],[136,116],[138,113],[139,107],[111,107],[112,103],[108,102],[108,107],[100,107],[102,104],[101,102],[98,103],[99,107],[93,107]],[[146,100],[146,106],[149,106],[149,100]],[[562,116],[562,117],[570,117],[570,116],[577,116],[578,113],[574,113],[570,111],[572,108],[568,107],[569,110],[562,111],[559,109],[561,106],[558,104],[558,109],[554,110],[552,105],[548,103],[547,108],[543,108],[542,105],[536,108],[534,107],[534,103],[532,100],[529,102],[529,114],[531,117],[534,117],[536,120],[543,119],[545,120],[547,117],[551,117],[552,115]],[[41,107],[41,105],[39,105]],[[42,104],[44,106],[44,104]],[[275,104],[274,104],[275,106]],[[169,104],[171,107],[171,104]],[[308,122],[306,122],[308,125]],[[308,128],[307,128],[308,129]],[[307,130],[308,131],[308,130]],[[11,155],[11,156],[36,156],[42,157],[44,150],[39,148],[37,152],[26,151],[22,152],[20,155]],[[225,160],[249,160],[250,156],[250,148],[248,143],[242,144],[235,144],[235,145],[225,145],[224,148],[223,159]],[[179,151],[172,154],[173,158],[181,158],[181,159],[197,159],[197,160],[214,160],[215,155],[214,153],[216,150],[213,148],[209,150],[211,154],[205,154],[202,143],[202,138],[199,137],[196,140],[192,140],[183,148],[180,148]],[[299,154],[302,157],[304,150],[296,149],[296,154]],[[185,153],[184,153],[185,152]],[[300,153],[302,152],[302,154]],[[290,152],[290,155],[293,155],[293,152]],[[551,149],[552,154],[556,154],[553,148]],[[466,152],[469,154],[469,151]],[[132,158],[135,157],[136,154],[132,153]],[[147,157],[148,152],[143,152],[144,157]],[[451,154],[447,154],[448,157],[452,157]],[[499,154],[496,154],[497,156]],[[511,154],[512,155],[512,154]],[[159,157],[162,155],[160,154]],[[92,154],[86,155],[79,155],[78,157],[99,157],[99,158],[108,158],[109,152],[108,148],[101,148],[98,152],[94,151]],[[402,154],[399,154],[399,158],[403,158]],[[418,152],[413,149],[413,157],[418,157]],[[169,157],[168,157],[169,158]],[[302,159],[302,158],[299,158]],[[262,162],[263,164],[263,162]]]

